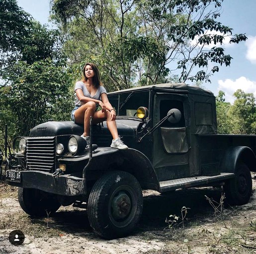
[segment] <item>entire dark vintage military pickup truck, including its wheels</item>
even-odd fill
[[[256,136],[217,134],[215,97],[196,86],[158,84],[108,94],[128,150],[111,148],[106,123],[91,127],[85,150],[83,126],[71,121],[40,124],[14,140],[18,165],[6,170],[30,215],[61,205],[85,207],[92,229],[113,239],[131,232],[143,209],[142,190],[223,186],[230,204],[252,192]]]

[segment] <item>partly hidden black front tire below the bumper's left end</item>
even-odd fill
[[[19,187],[18,200],[23,211],[31,216],[52,216],[61,206],[54,195],[37,189]]]

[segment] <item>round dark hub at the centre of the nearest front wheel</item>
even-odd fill
[[[124,219],[131,210],[131,199],[124,192],[119,191],[111,202],[111,213],[115,220]]]

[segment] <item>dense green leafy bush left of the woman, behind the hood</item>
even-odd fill
[[[15,116],[13,120],[17,120],[15,134],[27,135],[30,128],[48,119],[70,119],[71,77],[65,68],[50,59],[31,65],[18,62],[8,80],[0,87],[0,98],[2,105]]]

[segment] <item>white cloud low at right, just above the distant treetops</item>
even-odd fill
[[[218,84],[218,91],[225,92],[226,102],[234,103],[236,98],[233,94],[238,89],[243,90],[245,93],[253,93],[256,98],[256,81],[251,81],[246,77],[242,76],[235,81],[232,79],[219,80]]]

